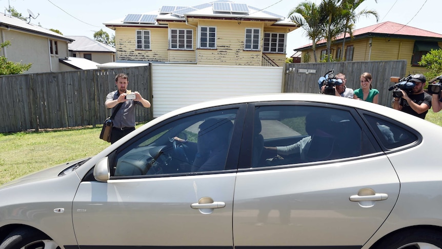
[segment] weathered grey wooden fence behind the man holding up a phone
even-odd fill
[[[0,132],[102,124],[118,73],[152,103],[151,66],[0,76]],[[151,108],[136,108],[137,122],[151,119]]]

